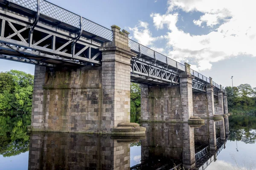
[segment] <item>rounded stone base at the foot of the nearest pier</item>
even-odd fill
[[[111,129],[111,136],[145,136],[145,127],[137,123],[123,122]]]

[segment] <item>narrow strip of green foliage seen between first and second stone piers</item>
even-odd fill
[[[140,119],[140,85],[131,83],[131,122],[138,123]]]

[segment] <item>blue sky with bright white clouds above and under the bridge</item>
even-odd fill
[[[117,25],[129,38],[188,62],[225,86],[256,87],[256,11],[252,0],[49,0],[102,26]],[[34,73],[34,66],[0,60],[0,71]]]

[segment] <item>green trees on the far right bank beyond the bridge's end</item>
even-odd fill
[[[226,87],[227,102],[230,113],[255,114],[256,113],[256,88],[248,84],[237,87]]]

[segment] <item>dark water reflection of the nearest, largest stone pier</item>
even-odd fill
[[[130,170],[130,143],[111,136],[32,133],[28,170],[41,169]]]

